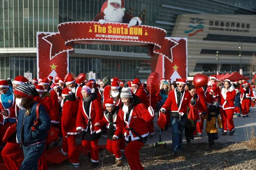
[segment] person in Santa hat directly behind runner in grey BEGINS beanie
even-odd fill
[[[144,90],[143,86],[140,85],[140,80],[135,78],[131,82],[131,88],[132,91],[136,96],[139,97],[140,101],[146,106],[149,107],[149,99],[148,99],[148,94]],[[149,130],[149,136],[153,137],[154,136],[154,117],[152,118],[151,122],[148,123],[148,130]]]

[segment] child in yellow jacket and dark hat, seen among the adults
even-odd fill
[[[218,139],[218,126],[220,129],[222,128],[221,119],[218,116],[218,108],[215,105],[211,105],[205,128],[208,135],[209,148],[212,148],[214,140]]]

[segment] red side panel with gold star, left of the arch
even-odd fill
[[[44,37],[54,33],[37,32],[37,78],[52,76],[53,79],[57,74],[65,77],[69,72],[68,67],[68,51],[64,51],[56,55],[54,58],[50,56],[51,46]],[[62,38],[58,40],[63,42]]]

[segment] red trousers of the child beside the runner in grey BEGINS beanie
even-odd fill
[[[120,150],[120,143],[122,139],[117,140],[107,140],[107,150],[116,156],[116,159],[120,160],[122,159],[122,153]]]

